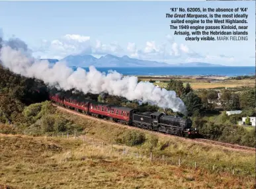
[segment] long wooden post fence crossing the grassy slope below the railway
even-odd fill
[[[63,137],[66,139],[81,139],[83,143],[87,145],[92,145],[93,147],[108,149],[110,152],[115,152],[120,155],[120,157],[136,157],[138,159],[148,160],[151,163],[162,163],[163,165],[176,165],[182,167],[190,167],[190,168],[204,168],[208,169],[211,172],[229,172],[231,174],[235,174],[237,176],[248,176],[248,181],[254,182],[255,180],[255,172],[250,172],[249,170],[237,169],[235,167],[222,167],[220,165],[210,165],[208,163],[200,162],[192,162],[190,160],[184,158],[177,157],[169,157],[167,155],[154,155],[153,152],[146,153],[145,151],[139,151],[137,148],[134,151],[134,147],[127,147],[122,145],[114,145],[105,143],[105,141],[101,141],[99,139],[86,137],[85,135],[81,135],[81,133],[73,132],[73,133],[46,133],[46,137]]]

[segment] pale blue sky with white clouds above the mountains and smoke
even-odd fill
[[[171,7],[248,8],[249,40],[186,41],[170,30]],[[112,54],[255,66],[255,1],[0,1],[0,28],[5,40],[26,42],[34,57]]]

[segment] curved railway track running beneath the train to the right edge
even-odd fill
[[[136,129],[136,130],[141,130],[141,131],[145,131],[144,129],[142,128],[136,128],[136,127],[132,127],[132,126],[126,126],[124,124],[119,124],[117,122],[112,122],[110,120],[105,120],[105,119],[99,119],[99,118],[95,118],[93,116],[88,116],[86,114],[82,114],[80,112],[77,112],[75,110],[70,110],[68,108],[64,108],[63,106],[59,106],[58,104],[55,104],[55,103],[52,103],[54,106],[56,106],[57,108],[61,109],[61,110],[65,110],[65,112],[71,112],[73,114],[76,114],[76,115],[79,115],[79,116],[83,116],[85,118],[89,118],[91,120],[97,120],[97,121],[101,121],[101,122],[106,122],[106,123],[110,123],[110,124],[114,124],[114,125],[117,125],[117,126],[123,126],[123,127],[126,127],[126,128],[129,128],[129,129]],[[177,137],[179,139],[185,139],[187,141],[196,141],[198,143],[204,143],[204,144],[210,144],[210,145],[216,145],[216,146],[220,146],[220,147],[227,147],[227,148],[231,148],[231,149],[237,149],[237,150],[240,150],[240,151],[247,151],[247,152],[253,152],[255,153],[255,148],[253,147],[246,147],[246,146],[241,146],[241,145],[235,145],[235,144],[231,144],[231,143],[223,143],[223,142],[220,142],[220,141],[213,141],[213,140],[210,140],[210,139],[189,139],[189,138],[185,138],[185,137],[179,137],[177,135],[170,135],[168,133],[159,133],[159,132],[155,132],[155,131],[151,131],[151,130],[147,130],[148,132],[150,133],[156,133],[157,135],[164,135],[164,136],[168,136],[168,137]]]

